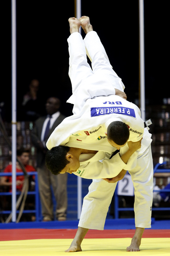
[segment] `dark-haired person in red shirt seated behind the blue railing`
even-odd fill
[[[29,161],[29,149],[26,148],[20,148],[17,150],[17,158],[20,160],[20,162],[24,165],[26,172],[35,172],[35,168],[33,166],[28,165]],[[4,172],[12,172],[12,165],[9,164],[6,166]],[[16,165],[16,172],[23,172],[20,164],[17,162]],[[33,176],[34,178],[34,176]],[[23,188],[23,182],[24,182],[24,175],[17,176],[16,178],[16,184],[17,184],[17,191],[21,191]],[[12,176],[3,176],[0,181],[1,186],[9,186],[9,192],[11,192],[11,185],[12,185]]]

